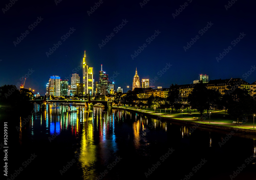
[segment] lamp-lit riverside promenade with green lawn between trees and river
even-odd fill
[[[211,129],[219,129],[224,131],[236,131],[246,134],[256,134],[256,128],[253,128],[253,121],[249,119],[249,121],[246,122],[246,120],[242,120],[239,122],[242,122],[241,124],[232,123],[234,120],[229,117],[229,115],[225,112],[220,111],[209,111],[209,114],[203,113],[203,119],[200,119],[200,113],[198,112],[191,112],[189,115],[187,113],[187,110],[184,110],[182,113],[178,112],[170,112],[170,109],[156,109],[157,112],[155,112],[154,109],[149,109],[145,107],[125,107],[125,106],[113,106],[114,109],[122,109],[127,111],[134,111],[136,113],[143,114],[145,116],[150,116],[153,118],[156,118],[158,120],[169,120],[173,122],[178,123],[184,123],[191,126],[196,127],[204,127],[204,128],[211,128]],[[196,117],[198,119],[193,119],[193,117]],[[253,118],[253,116],[252,116]],[[256,119],[255,119],[256,120]],[[256,126],[254,126],[256,127]]]

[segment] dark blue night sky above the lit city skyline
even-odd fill
[[[10,1],[3,0],[0,6],[6,9],[0,12],[0,86],[21,82],[29,69],[34,72],[26,79],[25,88],[41,95],[45,95],[52,75],[64,80],[77,73],[82,82],[82,69],[75,72],[75,68],[82,65],[84,50],[87,64],[94,69],[94,81],[99,80],[103,64],[103,71],[123,92],[128,90],[127,85],[132,86],[136,67],[140,79],[158,78],[150,83],[155,88],[190,84],[199,74],[209,75],[209,80],[232,77],[248,83],[256,81],[256,72],[244,75],[255,65],[255,4],[249,0],[233,0],[234,4],[224,0],[144,0],[145,5],[143,0],[14,2],[6,7]],[[100,6],[89,16],[95,3]],[[36,21],[39,23],[32,27]],[[124,26],[118,30],[116,26],[122,22]],[[69,31],[72,34],[65,38]],[[26,32],[26,37],[16,43],[17,37]],[[113,37],[99,47],[111,33]],[[151,36],[152,41],[148,39]],[[185,51],[191,38],[196,42]],[[235,43],[237,38],[239,42]],[[58,41],[59,47],[47,57],[46,52]],[[139,46],[144,49],[132,58]],[[232,49],[217,61],[216,57],[229,46]],[[167,70],[166,63],[172,65]],[[114,72],[118,75],[113,76]]]

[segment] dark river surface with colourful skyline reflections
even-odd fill
[[[22,128],[26,117],[0,116],[2,127],[8,122],[8,178],[256,179],[253,135],[234,131],[228,138],[229,132],[206,128],[189,133],[191,126],[117,109],[35,109]]]

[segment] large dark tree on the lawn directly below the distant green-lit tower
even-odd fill
[[[207,87],[200,81],[197,83],[193,91],[188,95],[188,102],[193,107],[197,109],[200,113],[202,119],[204,110],[209,109],[208,93]]]

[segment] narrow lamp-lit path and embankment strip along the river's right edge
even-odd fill
[[[150,116],[153,117],[155,119],[158,120],[167,120],[167,121],[172,121],[172,122],[178,122],[178,123],[183,123],[183,124],[187,124],[187,125],[191,125],[191,126],[195,126],[195,127],[203,127],[203,128],[210,128],[210,129],[217,129],[217,130],[224,130],[224,131],[236,131],[236,132],[240,132],[240,133],[245,133],[245,134],[256,134],[256,130],[255,128],[253,129],[253,127],[250,127],[248,125],[245,124],[233,124],[233,123],[225,123],[225,122],[215,122],[215,121],[206,121],[206,120],[200,120],[200,119],[193,119],[193,115],[190,117],[182,117],[182,119],[180,118],[176,118],[175,114],[173,115],[161,115],[161,113],[155,113],[154,111],[150,111],[150,110],[145,110],[145,109],[136,109],[136,108],[132,108],[132,107],[112,107],[114,109],[123,109],[123,110],[127,110],[127,111],[133,111],[136,113],[140,113],[143,114],[145,116]],[[184,113],[184,116],[186,116],[186,114]]]

